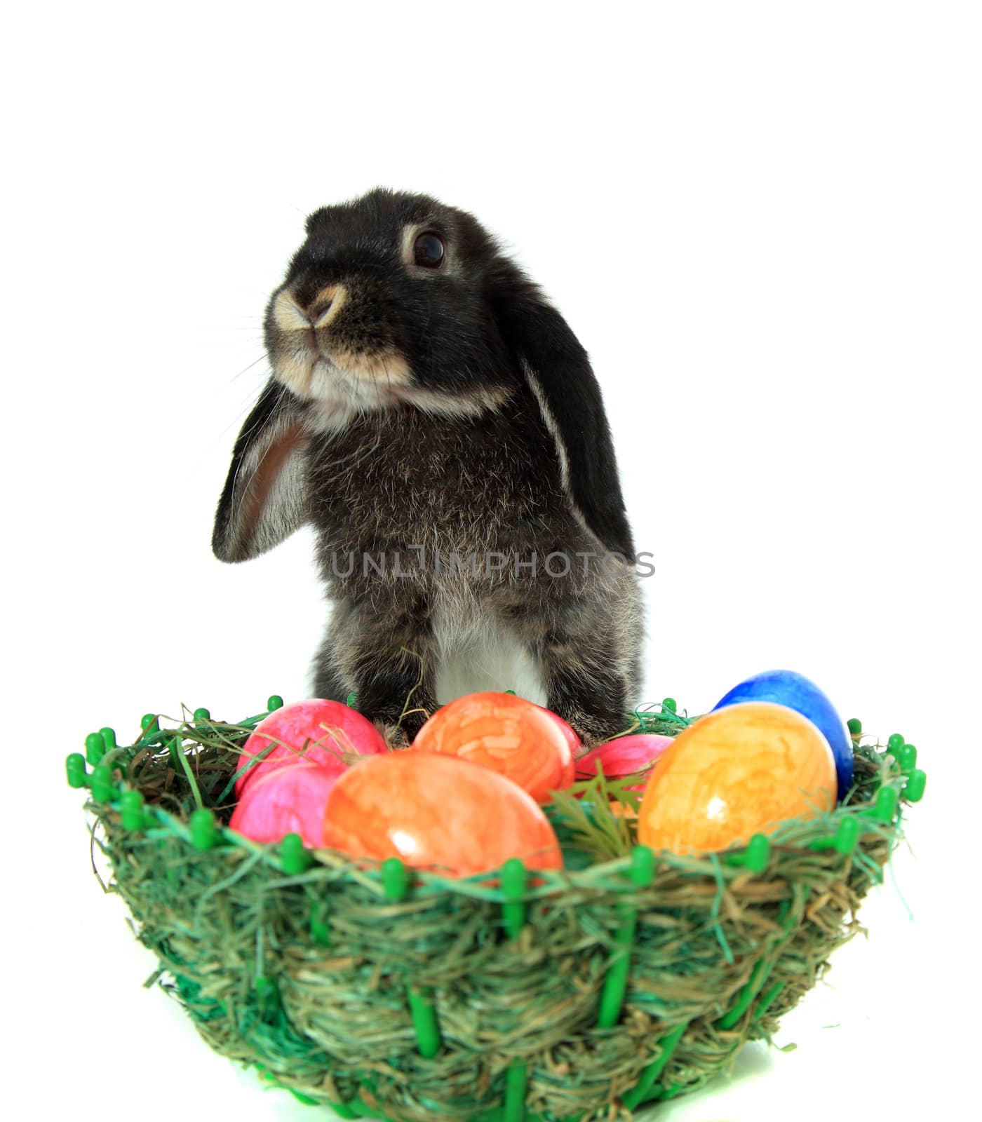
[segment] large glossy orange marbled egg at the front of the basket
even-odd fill
[[[323,820],[325,846],[358,857],[400,857],[451,876],[498,868],[561,868],[541,807],[479,764],[432,752],[367,756],[340,776]]]

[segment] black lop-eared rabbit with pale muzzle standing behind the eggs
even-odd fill
[[[477,689],[600,743],[636,701],[642,609],[600,389],[469,213],[376,188],[314,211],[266,309],[272,377],[215,513],[222,561],[312,524],[333,604],[318,697],[395,746]]]

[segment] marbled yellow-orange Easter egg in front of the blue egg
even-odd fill
[[[835,761],[818,728],[787,706],[744,701],[679,733],[644,789],[637,840],[713,852],[834,806]]]

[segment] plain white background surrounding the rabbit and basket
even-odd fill
[[[659,1118],[970,1109],[976,6],[25,11],[0,66],[7,1105],[314,1116],[140,988],[63,761],[147,710],[306,693],[310,536],[226,567],[211,518],[304,214],[380,183],[474,211],[591,352],[658,568],[646,698],[703,711],[790,666],[928,773],[893,870],[914,921],[888,879],[786,1019],[798,1050]]]

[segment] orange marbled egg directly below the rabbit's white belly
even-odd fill
[[[573,780],[572,751],[554,714],[513,693],[468,693],[438,709],[412,751],[460,756],[507,776],[536,802]]]

